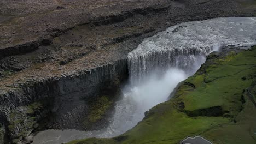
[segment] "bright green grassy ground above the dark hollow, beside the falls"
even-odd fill
[[[196,91],[179,97],[185,103],[185,110],[193,111],[222,106],[223,111],[230,112],[229,115],[237,115],[242,105],[240,99],[243,89],[252,83],[252,80],[243,80],[242,77],[253,75],[256,71],[253,64],[255,62],[252,61],[254,55],[255,50],[242,52],[235,56],[228,55],[216,68],[212,68],[212,64],[204,64],[203,68],[206,69],[206,73],[189,78],[190,83],[199,83],[198,77],[201,79],[203,76],[204,80],[201,81],[200,87],[196,87]],[[181,91],[184,90],[181,89]]]

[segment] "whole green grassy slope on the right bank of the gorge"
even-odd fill
[[[171,100],[153,107],[133,129],[113,139],[92,138],[69,144],[171,144],[194,135],[203,135],[214,143],[256,143],[255,80],[256,47],[225,57],[211,55],[179,86]]]

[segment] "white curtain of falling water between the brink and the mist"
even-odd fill
[[[220,47],[220,46],[218,46]],[[195,71],[195,67],[205,62],[205,56],[216,46],[201,49],[164,49],[143,53],[143,55],[129,55],[128,67],[130,80],[133,85],[141,83],[152,74],[162,75],[166,70],[175,67],[182,69],[187,74]],[[215,49],[216,50],[216,49]]]

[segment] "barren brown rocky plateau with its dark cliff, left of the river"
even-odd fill
[[[0,143],[28,143],[41,127],[87,129],[89,102],[118,93],[143,38],[179,22],[253,16],[251,3],[0,2]],[[92,129],[107,124],[103,115]]]

